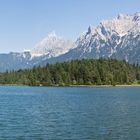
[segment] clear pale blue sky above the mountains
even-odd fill
[[[76,40],[89,25],[135,12],[139,0],[0,0],[0,53],[30,50],[52,31]]]

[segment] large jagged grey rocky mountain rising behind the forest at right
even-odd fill
[[[103,57],[140,63],[140,13],[118,15],[97,27],[89,27],[76,45],[65,55],[66,59]]]

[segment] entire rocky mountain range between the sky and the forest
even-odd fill
[[[53,32],[31,51],[0,54],[0,71],[101,57],[140,64],[139,12],[119,14],[112,20],[101,21],[96,27],[89,26],[76,41],[66,40]]]

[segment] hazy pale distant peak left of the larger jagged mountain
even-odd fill
[[[52,58],[65,54],[72,48],[75,48],[74,42],[58,37],[55,32],[52,32],[31,50],[31,55]]]

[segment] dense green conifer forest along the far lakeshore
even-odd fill
[[[0,84],[67,86],[133,83],[140,83],[140,67],[114,59],[72,60],[0,74]]]

